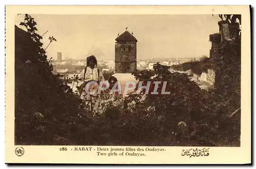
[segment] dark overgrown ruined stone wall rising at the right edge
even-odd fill
[[[212,43],[209,52],[210,58],[215,64],[214,70],[208,69],[207,73],[203,73],[199,80],[215,84],[220,92],[222,90],[228,90],[227,92],[229,92],[230,89],[226,88],[225,85],[230,85],[230,81],[237,82],[232,83],[232,85],[238,86],[234,90],[240,90],[240,77],[236,76],[240,75],[241,64],[239,60],[241,59],[241,41],[238,38],[240,25],[239,23],[231,24],[225,20],[219,21],[218,25],[219,33],[209,35],[209,40]],[[236,66],[233,66],[233,64]],[[232,66],[230,67],[230,65]]]

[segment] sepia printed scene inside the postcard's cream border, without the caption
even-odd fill
[[[15,144],[240,146],[241,15],[15,22]]]

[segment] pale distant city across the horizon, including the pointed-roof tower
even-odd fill
[[[115,57],[113,59],[97,59],[97,67],[100,71],[111,71],[113,74],[131,74],[135,70],[153,69],[154,64],[160,63],[166,66],[179,65],[199,58],[151,58],[140,59],[137,56],[138,40],[127,31],[118,34],[115,39]],[[200,56],[199,56],[200,57]],[[73,57],[74,58],[74,57]],[[96,56],[97,58],[97,56]],[[57,60],[52,61],[54,74],[79,74],[86,67],[86,59],[62,59],[61,51],[57,52]],[[125,76],[125,75],[124,75]]]

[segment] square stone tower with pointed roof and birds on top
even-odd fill
[[[115,40],[115,73],[132,73],[137,69],[137,39],[125,31]]]

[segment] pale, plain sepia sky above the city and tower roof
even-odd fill
[[[47,15],[31,14],[37,22],[48,57],[114,59],[115,38],[128,27],[137,38],[137,59],[200,57],[209,55],[209,34],[218,33],[218,16],[212,15]],[[15,19],[19,25],[24,15]],[[19,26],[20,27],[20,26]]]

